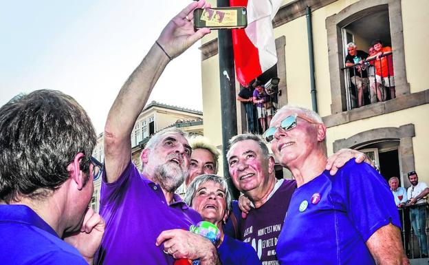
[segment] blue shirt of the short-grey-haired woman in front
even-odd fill
[[[261,265],[256,251],[250,244],[234,240],[228,235],[223,237],[217,253],[219,253],[219,259],[223,265]]]

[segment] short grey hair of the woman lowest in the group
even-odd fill
[[[225,178],[219,177],[217,175],[212,174],[203,174],[194,178],[192,182],[190,182],[188,189],[186,189],[186,194],[184,198],[184,202],[192,207],[192,200],[195,197],[195,193],[197,193],[197,189],[201,184],[204,184],[208,181],[212,181],[214,183],[219,183],[225,192],[225,200],[226,206],[228,207],[228,211],[231,211],[231,193],[228,189],[228,182],[226,182]]]

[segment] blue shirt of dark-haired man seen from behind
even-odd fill
[[[25,205],[0,205],[0,264],[85,264],[79,251]]]

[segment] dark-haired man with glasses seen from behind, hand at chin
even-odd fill
[[[93,264],[104,221],[88,208],[102,165],[85,110],[37,90],[0,107],[0,263]]]

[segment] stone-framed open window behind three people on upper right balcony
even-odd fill
[[[353,40],[357,49],[368,52],[371,42],[375,39],[382,40],[385,46],[392,48],[391,67],[394,70],[395,95],[410,94],[410,86],[406,78],[406,65],[404,54],[404,34],[401,15],[401,0],[360,0],[333,14],[326,19],[328,36],[329,75],[331,84],[331,114],[349,111],[357,107],[356,96],[359,98],[359,89],[351,83],[349,69],[344,69],[345,56],[347,56],[347,43]],[[386,72],[385,72],[386,73]],[[368,78],[370,80],[370,78]],[[382,78],[384,84],[384,76]],[[388,79],[388,78],[387,78]],[[366,81],[369,83],[369,80]],[[357,85],[358,82],[355,82]],[[371,87],[371,84],[369,84]],[[384,89],[382,100],[388,100],[386,92],[391,87]],[[364,105],[371,105],[380,100],[376,90],[366,90],[362,96]],[[388,90],[388,91],[387,91]],[[361,101],[361,102],[362,102]]]

